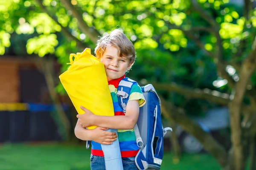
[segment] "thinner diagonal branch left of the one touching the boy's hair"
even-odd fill
[[[47,8],[43,5],[42,1],[41,0],[36,0],[36,2],[38,3],[39,7],[41,8],[41,10],[43,12],[45,12],[46,14],[49,15],[49,17],[52,18],[52,20],[55,21],[55,23],[57,23],[59,26],[61,26],[61,31],[62,33],[67,36],[68,38],[72,39],[72,40],[75,40],[76,41],[76,44],[79,48],[81,48],[81,50],[84,49],[84,47],[86,46],[85,43],[81,42],[78,38],[74,37],[69,31],[68,31],[68,28],[67,27],[64,27],[61,25],[61,23],[58,22],[58,19],[57,17],[55,17],[55,15],[51,14],[50,11],[47,10]]]

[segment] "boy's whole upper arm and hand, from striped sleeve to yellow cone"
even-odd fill
[[[98,116],[84,107],[81,107],[81,109],[85,111],[84,114],[77,115],[81,125],[84,127],[96,125],[111,129],[133,129],[137,123],[140,112],[139,100],[128,101],[125,116]]]

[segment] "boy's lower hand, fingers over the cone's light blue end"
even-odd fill
[[[92,140],[100,144],[112,144],[117,138],[116,133],[105,131],[108,128],[105,127],[96,127],[92,130]]]

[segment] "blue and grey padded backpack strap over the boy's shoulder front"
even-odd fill
[[[119,82],[119,85],[117,87],[116,95],[118,99],[118,104],[123,109],[124,113],[126,112],[126,105],[130,97],[131,86],[135,83],[137,82],[125,77]]]

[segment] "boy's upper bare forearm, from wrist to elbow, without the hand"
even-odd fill
[[[111,129],[132,129],[137,120],[131,116],[97,116],[94,115],[93,125]]]

